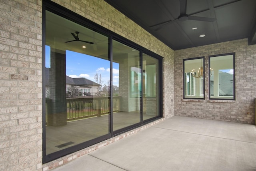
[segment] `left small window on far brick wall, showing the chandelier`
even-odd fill
[[[183,98],[204,99],[204,57],[183,60],[183,69]]]

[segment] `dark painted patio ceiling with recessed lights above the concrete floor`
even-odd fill
[[[105,1],[173,50],[242,38],[256,44],[256,0]]]

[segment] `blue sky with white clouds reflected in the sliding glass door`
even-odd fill
[[[46,68],[50,68],[50,47],[46,46]],[[87,78],[96,82],[95,74],[102,77],[104,84],[110,80],[110,61],[86,54],[66,51],[66,75],[72,78]],[[119,64],[113,62],[113,85],[119,84]]]

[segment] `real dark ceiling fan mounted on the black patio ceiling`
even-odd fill
[[[178,16],[178,18],[150,26],[150,28],[156,27],[156,30],[159,30],[163,26],[177,22],[177,21],[183,22],[186,20],[197,20],[197,21],[205,21],[205,22],[214,22],[216,20],[216,18],[189,16],[188,14],[186,14],[186,12],[187,12],[187,0],[180,0],[180,16]]]

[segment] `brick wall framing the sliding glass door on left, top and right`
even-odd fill
[[[54,2],[163,56],[173,99],[173,50],[104,0]],[[42,170],[42,0],[0,1],[0,159],[0,171]]]

